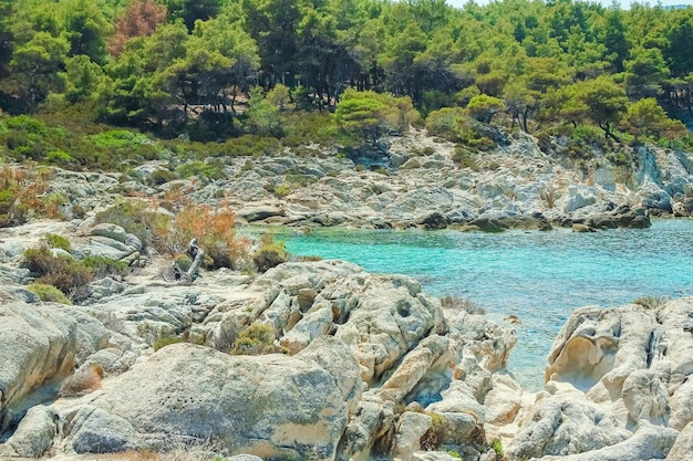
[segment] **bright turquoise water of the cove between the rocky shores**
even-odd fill
[[[693,220],[597,233],[321,229],[280,239],[292,255],[411,275],[426,292],[469,298],[498,322],[517,315],[508,369],[531,390],[541,387],[551,343],[576,307],[693,296]]]

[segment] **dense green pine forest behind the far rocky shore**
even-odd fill
[[[0,0],[0,154],[113,168],[161,155],[147,136],[257,155],[412,124],[690,148],[691,45],[693,8],[641,3]]]

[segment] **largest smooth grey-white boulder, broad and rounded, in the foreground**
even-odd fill
[[[211,439],[230,454],[334,459],[360,395],[358,373],[334,338],[296,357],[176,344],[73,410],[65,444],[102,452]]]

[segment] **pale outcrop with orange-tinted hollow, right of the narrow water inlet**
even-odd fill
[[[690,444],[693,300],[648,301],[573,312],[510,460],[664,459]]]

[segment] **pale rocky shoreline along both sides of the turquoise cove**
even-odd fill
[[[307,261],[178,283],[169,260],[94,221],[125,195],[165,210],[177,193],[302,231],[641,228],[693,211],[690,154],[640,147],[634,171],[582,171],[520,134],[473,169],[415,133],[369,170],[310,150],[234,159],[208,182],[152,186],[157,163],[137,180],[56,170],[49,192],[73,219],[0,229],[0,459],[201,446],[195,459],[693,460],[693,298],[575,311],[534,394],[505,369],[511,328],[413,279]],[[41,302],[20,262],[46,233],[133,270],[79,305]]]

